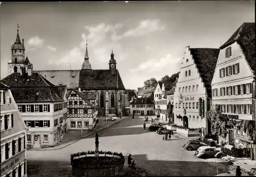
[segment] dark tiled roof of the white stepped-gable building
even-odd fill
[[[214,76],[220,49],[194,48],[190,49],[190,52],[203,79],[208,97],[211,97],[211,80]]]

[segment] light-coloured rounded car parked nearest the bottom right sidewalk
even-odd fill
[[[201,146],[197,149],[194,155],[198,158],[222,158],[223,153],[221,148]]]

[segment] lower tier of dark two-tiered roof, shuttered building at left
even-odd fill
[[[57,87],[11,87],[15,102],[62,102]],[[38,96],[36,93],[38,92]]]

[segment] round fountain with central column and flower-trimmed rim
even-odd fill
[[[95,151],[71,154],[72,176],[115,176],[123,172],[122,153],[99,151],[99,136],[95,136]]]

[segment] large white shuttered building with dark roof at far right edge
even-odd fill
[[[255,23],[244,23],[220,49],[211,82],[212,104],[219,104],[222,114],[229,119],[253,120]],[[246,144],[253,143],[253,140],[243,127],[237,127],[228,130],[227,142],[243,148],[250,147]]]

